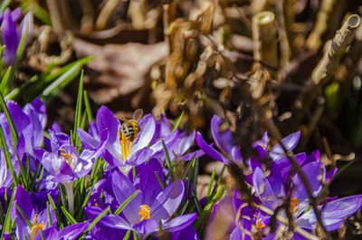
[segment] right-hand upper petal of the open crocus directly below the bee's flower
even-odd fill
[[[172,216],[184,196],[184,184],[180,180],[168,185],[158,194],[154,204],[150,207],[152,219],[168,219]]]

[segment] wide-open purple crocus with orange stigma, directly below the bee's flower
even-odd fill
[[[125,206],[122,211],[123,216],[105,216],[100,221],[103,226],[124,230],[134,229],[138,237],[144,239],[147,235],[158,232],[160,224],[164,231],[175,232],[190,226],[195,221],[196,214],[170,219],[182,201],[184,184],[176,180],[162,189],[151,169],[153,168],[144,168],[133,184],[119,170],[114,171],[112,187],[119,205],[135,193],[137,188],[140,191]],[[89,207],[86,212],[95,217],[97,207]]]

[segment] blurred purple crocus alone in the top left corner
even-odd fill
[[[3,59],[8,66],[13,65],[15,61],[17,48],[22,35],[25,34],[25,25],[27,25],[26,38],[29,38],[28,35],[33,27],[33,14],[29,12],[24,16],[19,28],[16,29],[16,21],[21,15],[22,12],[20,8],[16,8],[13,12],[10,11],[9,8],[6,8],[4,14],[0,16],[2,40],[6,46]],[[27,39],[25,41],[27,41]]]

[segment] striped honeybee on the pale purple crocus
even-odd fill
[[[138,109],[133,112],[133,117],[131,120],[126,120],[123,117],[117,116],[119,120],[123,121],[121,129],[124,134],[124,137],[128,139],[129,142],[133,142],[134,140],[137,139],[137,135],[141,130],[138,125],[138,120],[140,120],[142,115],[143,115],[143,110]]]

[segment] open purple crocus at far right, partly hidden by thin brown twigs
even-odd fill
[[[329,182],[335,171],[332,170],[326,174],[324,165],[313,159],[315,156],[314,154],[309,159],[310,162],[302,166],[301,170],[308,178],[313,196],[317,197],[322,188],[322,183]],[[285,197],[291,191],[289,211],[295,218],[296,226],[301,229],[300,231],[307,231],[307,234],[309,230],[314,230],[317,223],[316,216],[314,211],[309,209],[310,199],[299,174],[291,175],[291,188],[288,188],[278,168],[271,168],[269,176],[265,176],[262,168],[255,168],[252,173],[252,186],[255,190],[255,196],[259,197],[262,205],[270,209],[271,212],[285,201]],[[346,217],[353,215],[361,206],[362,195],[330,200],[319,206],[324,226],[328,231],[338,229]],[[280,215],[285,218],[285,212],[281,211]],[[283,225],[281,224],[281,226]],[[300,232],[296,233],[296,237],[309,239],[300,235]]]

